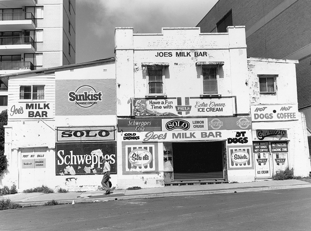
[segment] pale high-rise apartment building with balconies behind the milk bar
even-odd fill
[[[0,75],[75,63],[75,0],[0,1]],[[0,82],[0,111],[7,108]]]

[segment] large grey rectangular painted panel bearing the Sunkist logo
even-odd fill
[[[115,79],[57,79],[55,84],[56,116],[116,113]]]

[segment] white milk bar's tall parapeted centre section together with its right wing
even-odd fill
[[[115,57],[116,78],[119,86],[117,88],[118,156],[122,155],[122,160],[126,161],[132,158],[132,149],[136,148],[137,151],[139,148],[157,149],[157,151],[148,154],[151,153],[156,162],[156,168],[151,169],[149,166],[144,166],[143,161],[141,165],[147,169],[150,168],[149,170],[145,171],[142,166],[128,170],[123,166],[123,179],[118,180],[120,187],[126,188],[129,185],[156,187],[180,182],[187,183],[191,182],[191,178],[196,174],[201,174],[199,178],[196,178],[197,180],[213,179],[199,170],[189,172],[187,169],[180,169],[179,172],[175,172],[174,160],[177,159],[177,155],[174,155],[173,147],[173,158],[170,157],[171,161],[168,161],[166,146],[169,145],[169,149],[172,151],[171,146],[178,147],[179,143],[185,142],[194,147],[194,152],[199,152],[199,150],[195,150],[196,145],[194,144],[198,144],[199,147],[208,141],[208,143],[215,144],[218,142],[218,146],[225,149],[222,153],[219,152],[223,157],[223,168],[217,170],[222,176],[214,177],[218,181],[250,182],[255,179],[271,179],[275,172],[285,169],[286,166],[293,168],[295,175],[308,175],[310,161],[305,121],[303,114],[297,110],[295,83],[295,63],[297,61],[247,58],[243,26],[228,27],[227,33],[200,33],[200,28],[163,28],[160,34],[133,34],[133,28],[116,28]],[[217,93],[204,94],[200,68],[215,64],[218,68]],[[148,92],[150,84],[148,71],[152,68],[163,70],[163,91],[158,94]],[[261,75],[277,76],[274,82],[275,93],[259,92],[259,76]],[[166,100],[171,102],[172,108],[170,105],[168,106]],[[201,102],[214,100],[216,103],[226,104],[226,107],[223,108],[223,111],[205,111],[204,114],[201,113],[202,110],[199,112],[199,108],[196,108],[196,106],[200,107],[197,103],[200,100]],[[161,107],[161,105],[165,106]],[[185,113],[185,111],[178,112],[178,105],[192,107],[186,109],[188,111]],[[285,118],[274,118],[267,121],[256,120],[254,118],[256,111],[251,111],[251,109],[256,110],[256,107],[264,105],[269,105],[269,110],[276,109],[276,112],[272,112],[275,114],[283,112],[282,107],[290,107],[289,118],[285,116]],[[274,105],[276,105],[275,108]],[[195,111],[195,109],[198,110]],[[248,128],[247,126],[246,128],[240,126],[238,129],[229,128],[229,120],[236,119],[237,121],[234,123],[238,124],[238,120],[241,118],[244,118],[246,123],[250,119],[252,125]],[[204,129],[212,132],[214,136],[211,134],[210,137],[205,137],[201,130],[192,129],[194,132],[190,132],[191,128],[186,132],[186,129],[180,128],[174,128],[172,131],[165,129],[170,121],[180,119],[191,123],[206,120]],[[215,128],[213,130],[209,127],[209,123],[214,119],[218,120],[218,123],[227,123],[227,125],[224,125],[222,129]],[[160,123],[162,126],[151,126],[152,128],[137,126],[137,129],[130,125],[139,121],[150,124]],[[268,151],[266,150],[267,153],[261,154],[261,156],[268,157],[270,155],[269,158],[260,158],[258,150],[254,153],[256,143],[253,141],[259,141],[256,137],[256,132],[260,132],[259,130],[264,130],[267,133],[286,134],[283,137],[268,136],[263,139],[267,142]],[[221,135],[217,137],[216,131]],[[229,144],[242,133],[248,140],[247,144]],[[284,142],[277,143],[279,141]],[[272,148],[272,146],[278,147],[279,145],[284,145],[283,152],[286,150],[285,154],[275,153],[278,149]],[[204,146],[206,149],[211,147]],[[245,156],[249,158],[248,162],[246,164],[233,162],[234,154],[232,153],[235,151],[247,152]],[[179,152],[182,153],[181,150]],[[147,152],[143,151],[143,155],[145,153]],[[286,158],[281,158],[284,155]],[[196,164],[191,155],[184,155],[183,158],[186,165]],[[221,160],[218,161],[221,162]],[[260,161],[267,162],[261,164]],[[285,162],[276,163],[276,161]],[[200,166],[200,168],[203,167]],[[259,168],[262,169],[258,170]],[[188,175],[183,173],[184,178],[180,178],[179,175],[183,171],[188,171]],[[208,169],[203,171],[208,172]],[[178,176],[178,180],[175,179],[177,178],[175,176]]]

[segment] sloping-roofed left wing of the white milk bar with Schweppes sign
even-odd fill
[[[99,167],[96,169],[97,172],[94,170],[89,174],[87,169],[92,169],[92,165],[89,164],[89,167],[80,174],[78,172],[72,174],[72,171],[79,169],[79,166],[86,166],[87,160],[85,159],[80,165],[70,163],[70,152],[66,154],[65,152],[72,149],[75,155],[75,150],[79,150],[79,147],[83,146],[86,150],[89,148],[89,143],[94,143],[95,146],[105,145],[105,141],[85,141],[82,136],[67,141],[66,138],[59,136],[62,136],[62,132],[65,131],[72,133],[83,129],[91,131],[93,128],[110,128],[109,132],[112,135],[109,136],[109,142],[116,143],[113,135],[115,131],[112,129],[116,128],[114,59],[44,69],[42,73],[33,71],[26,74],[13,74],[7,77],[10,79],[9,122],[5,128],[5,155],[8,159],[8,170],[0,176],[1,185],[15,184],[19,191],[42,185],[56,191],[59,188],[72,191],[97,189],[102,179],[102,166],[97,166]],[[44,99],[20,99],[20,87],[23,85],[43,85]],[[74,92],[84,85],[92,86],[93,90],[102,92],[101,101],[98,100],[94,105],[85,108],[76,104],[76,101],[70,101],[69,92]],[[84,91],[87,91],[87,88]],[[36,106],[29,109],[31,103],[37,105],[37,109]],[[108,108],[105,108],[106,105]],[[37,116],[32,117],[34,115]],[[77,132],[77,134],[80,136],[82,133]],[[68,163],[66,166],[68,172],[63,169],[63,166],[58,165],[62,159],[57,155],[57,145],[68,147],[68,150],[60,151],[65,154],[63,158]],[[103,157],[100,152],[91,155],[85,153],[85,155],[91,156],[89,162],[97,160],[97,164]],[[116,182],[116,174],[111,174],[111,178]]]

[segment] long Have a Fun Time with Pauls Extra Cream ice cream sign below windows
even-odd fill
[[[236,113],[235,97],[200,98],[170,97],[166,99],[135,98],[135,117],[232,116]]]

